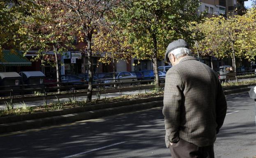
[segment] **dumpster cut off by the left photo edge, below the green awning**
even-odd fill
[[[20,95],[19,91],[21,85],[21,76],[16,72],[1,72],[0,73],[0,86],[9,86],[1,87],[0,90],[11,90],[13,89],[13,95]],[[0,94],[0,96],[9,96],[9,93]]]

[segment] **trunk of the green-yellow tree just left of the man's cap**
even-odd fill
[[[158,66],[157,66],[157,37],[153,34],[153,41],[154,41],[154,55],[153,55],[153,65],[154,65],[154,73],[156,79],[156,88],[160,87],[159,76],[158,76]]]

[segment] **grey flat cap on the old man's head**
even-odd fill
[[[171,42],[168,47],[166,48],[166,52],[164,55],[164,60],[166,62],[169,62],[169,58],[168,58],[168,54],[172,51],[175,50],[176,48],[180,48],[180,47],[185,47],[189,49],[189,45],[187,44],[187,42],[184,39],[178,39],[176,41]]]

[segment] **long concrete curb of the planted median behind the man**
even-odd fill
[[[249,85],[224,87],[224,93],[234,94],[249,91]],[[56,110],[51,112],[40,112],[10,117],[0,117],[0,133],[21,131],[64,124],[74,121],[95,119],[113,114],[120,114],[142,109],[163,106],[163,96],[152,98],[133,99],[128,101],[104,103],[85,107]]]

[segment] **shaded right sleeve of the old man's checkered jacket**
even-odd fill
[[[217,100],[216,100],[216,123],[217,123],[216,133],[219,133],[219,129],[224,123],[226,112],[227,112],[226,97],[221,87],[221,83],[218,81],[218,94],[217,94]]]

